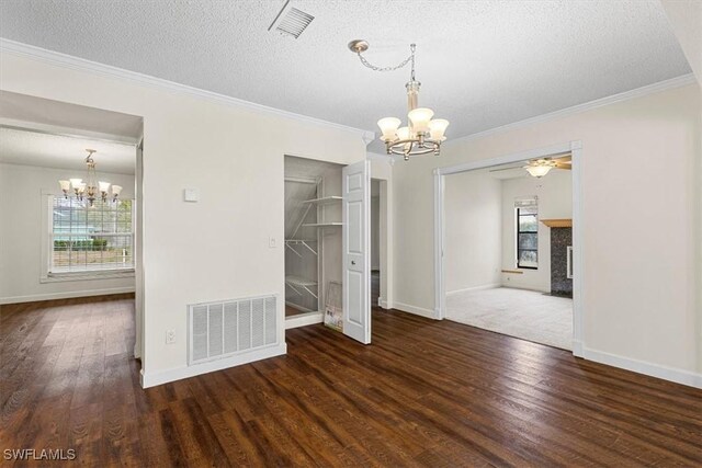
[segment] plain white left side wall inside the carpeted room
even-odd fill
[[[484,172],[446,178],[446,294],[501,283],[501,182]]]

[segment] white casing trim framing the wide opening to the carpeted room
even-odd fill
[[[581,158],[582,142],[570,141],[567,144],[553,145],[544,148],[531,149],[513,155],[499,156],[497,158],[484,159],[479,161],[465,162],[434,169],[434,308],[435,318],[445,318],[445,265],[443,251],[445,241],[444,229],[444,185],[445,175],[456,174],[476,169],[485,169],[494,165],[520,162],[525,159],[545,158],[553,155],[570,152],[573,158],[573,246],[574,246],[574,281],[573,281],[573,350],[576,356],[579,354],[585,343],[584,338],[584,307],[582,292],[585,283],[582,281],[582,183],[581,183]],[[513,285],[512,285],[513,287]],[[577,344],[576,344],[577,343]]]

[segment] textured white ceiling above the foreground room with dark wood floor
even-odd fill
[[[0,34],[299,114],[375,130],[404,116],[417,43],[420,103],[465,136],[690,72],[657,0],[291,0],[298,39],[268,32],[283,1],[2,0]]]

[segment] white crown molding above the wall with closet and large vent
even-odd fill
[[[212,101],[218,104],[229,105],[233,107],[246,109],[248,111],[253,111],[253,112],[268,114],[268,115],[275,115],[279,117],[290,118],[292,121],[318,125],[321,127],[332,128],[336,130],[350,132],[358,135],[360,138],[364,140],[369,138],[369,134],[374,135],[372,132],[365,130],[362,128],[349,127],[347,125],[336,124],[333,122],[322,121],[320,118],[309,117],[307,115],[296,114],[294,112],[283,111],[275,107],[269,107],[268,105],[257,104],[257,103],[245,101],[241,99],[218,94],[212,91],[189,87],[186,84],[180,84],[180,83],[165,80],[161,78],[151,77],[149,75],[125,70],[123,68],[113,67],[111,65],[104,65],[97,61],[87,60],[84,58],[79,58],[71,55],[61,54],[58,52],[32,46],[29,44],[5,39],[3,37],[0,37],[0,52],[30,57],[32,59],[43,61],[45,64],[55,65],[64,68],[69,68],[73,70],[79,70],[79,71],[87,71],[93,75],[100,75],[109,78],[127,80],[127,81],[136,82],[139,84],[144,84],[147,87],[157,88],[161,90],[190,94],[190,95],[205,99],[207,101]]]

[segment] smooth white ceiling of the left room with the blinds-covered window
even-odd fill
[[[80,178],[86,172],[87,148],[98,150],[93,156],[98,176],[101,172],[134,174],[134,145],[0,128],[0,162],[76,169],[76,176]]]

